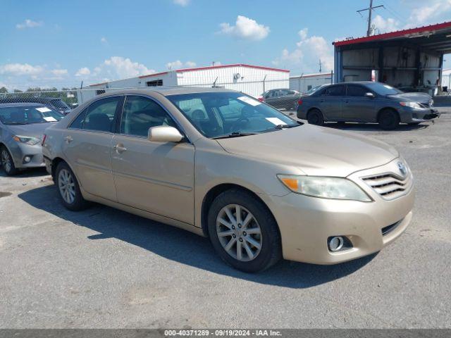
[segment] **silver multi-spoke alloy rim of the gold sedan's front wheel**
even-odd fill
[[[253,261],[262,246],[259,223],[247,208],[229,204],[219,211],[216,234],[223,249],[237,261]]]

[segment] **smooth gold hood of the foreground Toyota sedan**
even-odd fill
[[[347,177],[399,156],[376,139],[311,125],[216,141],[230,154],[292,165],[306,175]]]

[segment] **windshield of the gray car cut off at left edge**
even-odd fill
[[[45,106],[16,106],[0,108],[0,121],[5,125],[29,125],[32,123],[57,122],[61,113]]]

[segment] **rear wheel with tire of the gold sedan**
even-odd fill
[[[89,206],[80,192],[77,177],[66,162],[58,163],[55,172],[55,184],[63,206],[69,210],[81,211]]]

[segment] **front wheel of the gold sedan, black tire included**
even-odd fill
[[[226,210],[235,221],[228,217]],[[247,222],[248,215],[250,219]],[[218,255],[237,270],[257,273],[276,264],[282,257],[276,220],[268,208],[248,192],[230,189],[219,194],[209,209],[208,228],[211,243]],[[230,242],[232,244],[227,250]]]

